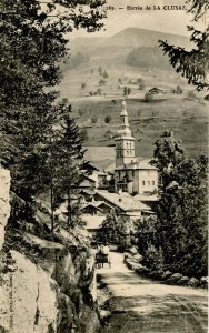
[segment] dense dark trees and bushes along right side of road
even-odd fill
[[[200,278],[207,274],[206,157],[186,159],[173,137],[157,141],[155,157],[162,191],[157,206],[157,249],[172,271]]]

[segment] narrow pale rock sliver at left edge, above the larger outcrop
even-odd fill
[[[10,215],[10,172],[0,168],[0,251],[4,242],[4,228]]]

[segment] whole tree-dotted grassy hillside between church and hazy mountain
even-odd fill
[[[89,91],[97,91],[101,77],[98,67],[107,70],[109,78],[107,84],[101,87],[101,97],[86,97]],[[90,69],[93,68],[93,74]],[[159,71],[149,69],[136,69],[121,63],[90,62],[83,63],[76,70],[64,73],[64,79],[60,85],[61,95],[68,98],[72,104],[73,115],[81,128],[87,128],[89,140],[87,145],[109,145],[113,140],[107,140],[104,133],[110,130],[117,132],[119,124],[120,105],[123,85],[118,88],[118,78],[128,77],[130,79],[142,78],[146,89],[139,91],[131,85],[131,94],[127,100],[127,109],[131,130],[136,138],[136,153],[138,157],[152,157],[153,143],[165,130],[172,130],[175,135],[182,141],[188,157],[196,157],[208,152],[208,102],[202,102],[203,94],[196,92],[197,100],[188,99],[188,91],[193,87],[180,78],[172,69],[170,71]],[[86,82],[87,88],[81,90],[81,83]],[[143,95],[152,87],[161,89],[173,89],[177,84],[183,89],[183,94],[166,94],[161,100],[146,103]],[[111,101],[116,100],[116,104]],[[84,115],[79,117],[79,109]],[[138,111],[141,111],[140,118]],[[153,118],[153,112],[156,117]],[[104,117],[111,115],[110,124],[104,123]],[[91,124],[91,117],[98,117],[98,123]]]

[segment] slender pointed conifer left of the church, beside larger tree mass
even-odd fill
[[[63,115],[60,127],[53,131],[48,148],[48,170],[51,196],[52,229],[53,212],[61,202],[67,201],[67,222],[72,226],[71,193],[82,181],[81,160],[84,154],[83,138],[74,120],[70,117],[71,105],[62,104]]]

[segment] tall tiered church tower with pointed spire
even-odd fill
[[[135,161],[135,138],[129,127],[127,104],[122,101],[120,128],[116,138],[116,168]]]

